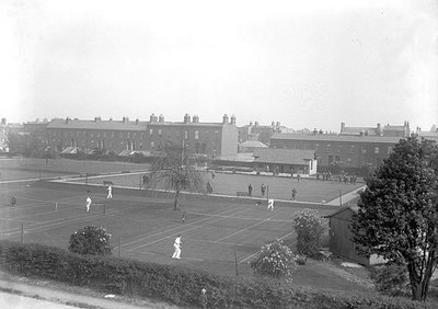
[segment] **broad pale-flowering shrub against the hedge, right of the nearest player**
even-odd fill
[[[258,256],[251,262],[251,267],[256,274],[291,281],[297,263],[293,252],[277,239],[262,247]]]

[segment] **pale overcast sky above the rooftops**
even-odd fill
[[[0,0],[0,116],[428,130],[437,3]]]

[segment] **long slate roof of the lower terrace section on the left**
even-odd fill
[[[47,129],[106,129],[106,130],[146,130],[147,123],[139,122],[117,122],[117,121],[76,121],[59,119],[53,121]]]

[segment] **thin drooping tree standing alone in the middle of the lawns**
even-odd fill
[[[201,172],[189,164],[187,147],[166,145],[161,149],[151,167],[147,186],[174,191],[173,209],[178,209],[178,197],[182,190],[205,193],[205,181]]]

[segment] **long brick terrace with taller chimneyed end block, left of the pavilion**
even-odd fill
[[[30,124],[28,128],[37,128]],[[80,148],[87,153],[92,149],[113,150],[118,153],[130,151],[150,152],[168,144],[180,145],[193,154],[215,158],[238,152],[235,117],[224,115],[221,123],[200,123],[198,116],[189,115],[184,121],[164,122],[164,116],[150,116],[149,122],[54,119],[46,126],[45,141],[56,151],[67,147]]]

